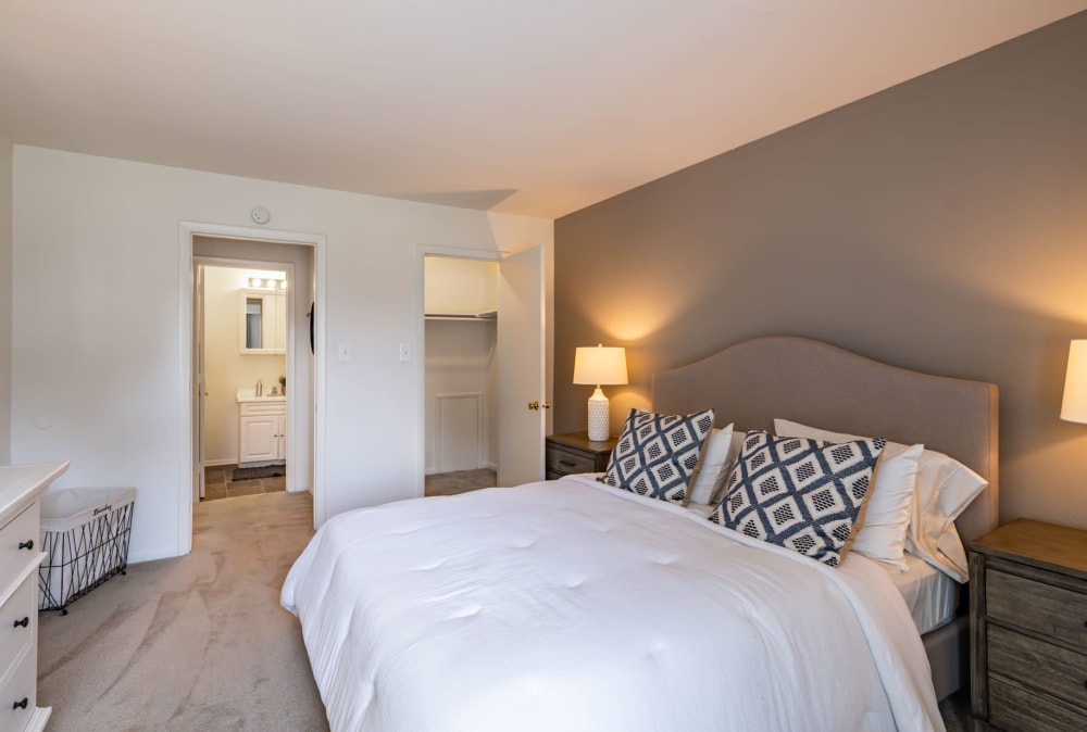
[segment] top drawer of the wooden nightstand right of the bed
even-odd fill
[[[1087,595],[996,569],[985,573],[986,615],[1087,653]]]

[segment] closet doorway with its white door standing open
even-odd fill
[[[426,426],[418,443],[418,494],[425,494],[427,472],[437,472],[441,465],[442,447],[436,436],[442,431],[452,437],[453,446],[464,451],[466,445],[468,464],[472,451],[483,445],[484,457],[479,463],[496,471],[498,485],[541,480],[550,406],[545,378],[545,248],[503,256],[501,252],[420,245],[417,253],[421,314],[417,378],[422,396],[418,409],[420,424]],[[427,270],[433,270],[437,262],[447,268],[475,274],[462,273],[453,280],[453,292],[438,300],[445,304],[436,305],[433,299],[427,303],[427,291],[433,288]],[[446,332],[438,340],[436,331],[452,330],[441,323],[457,324],[461,339]],[[480,327],[491,330],[479,330]],[[465,339],[475,344],[474,351],[466,352],[474,355],[466,355]],[[457,343],[458,340],[462,342]],[[451,341],[460,352],[450,353]],[[435,349],[436,344],[442,350]],[[461,380],[447,379],[446,400],[438,399],[442,394],[432,386],[427,374],[442,358],[449,358],[451,367],[466,367],[475,362],[473,369],[461,368],[454,375]],[[447,419],[450,426],[442,425]],[[474,433],[480,437],[474,438]],[[461,456],[463,459],[463,452]],[[455,483],[452,492],[459,492]]]

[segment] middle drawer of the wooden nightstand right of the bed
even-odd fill
[[[989,624],[989,671],[1087,707],[1087,656]]]

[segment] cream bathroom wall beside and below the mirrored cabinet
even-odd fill
[[[250,269],[204,269],[204,462],[238,462],[239,387],[264,382],[268,392],[287,374],[283,354],[241,353],[241,292],[249,287]]]

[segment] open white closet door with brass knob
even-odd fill
[[[498,484],[544,479],[544,247],[501,261],[498,277]],[[533,408],[535,404],[535,408]]]

